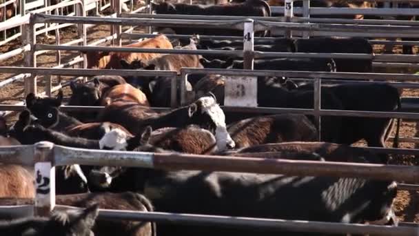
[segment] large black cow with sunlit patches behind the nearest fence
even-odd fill
[[[170,213],[343,223],[386,218],[397,193],[394,181],[150,168],[126,169],[112,179],[111,189],[142,191],[157,210]],[[163,223],[158,228],[159,235],[255,235],[258,230]]]

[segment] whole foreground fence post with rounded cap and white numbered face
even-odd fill
[[[41,141],[35,148],[35,194],[34,214],[48,216],[55,206],[55,168],[52,166],[54,144]]]

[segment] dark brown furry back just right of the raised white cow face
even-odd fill
[[[269,115],[243,119],[227,126],[236,148],[283,141],[315,141],[317,129],[300,114]]]

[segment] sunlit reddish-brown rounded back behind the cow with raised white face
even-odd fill
[[[120,84],[106,91],[101,98],[101,106],[112,104],[114,101],[134,101],[141,106],[150,106],[145,94],[130,83]]]

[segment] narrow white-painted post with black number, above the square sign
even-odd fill
[[[254,20],[246,19],[243,30],[243,69],[253,70]]]

